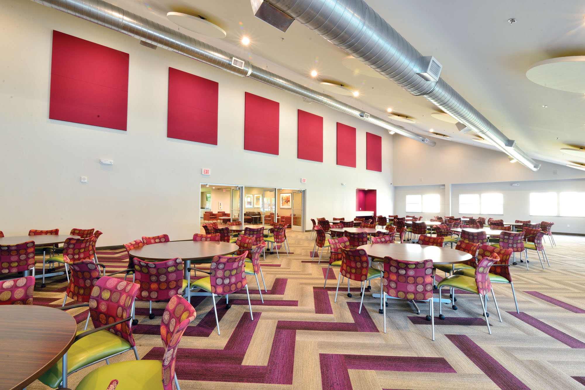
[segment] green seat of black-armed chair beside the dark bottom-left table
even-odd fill
[[[85,332],[78,330],[77,335]],[[42,348],[42,346],[39,346]],[[84,365],[94,363],[94,361],[101,360],[113,354],[120,353],[131,349],[130,343],[122,337],[118,337],[108,330],[100,330],[77,340],[67,351],[67,372],[71,373]],[[57,388],[61,383],[63,360],[57,360],[53,367],[49,368],[43,375],[39,377],[39,381],[43,382],[51,388]],[[160,376],[160,371],[159,371]],[[109,379],[111,381],[113,378]],[[108,382],[109,384],[109,382]],[[104,389],[107,386],[104,387]]]

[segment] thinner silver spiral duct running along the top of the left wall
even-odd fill
[[[436,142],[428,140],[404,127],[396,126],[387,120],[383,120],[370,114],[366,119],[364,111],[356,107],[347,105],[340,100],[334,99],[325,93],[317,92],[304,85],[292,80],[273,74],[265,69],[250,64],[247,60],[243,67],[232,65],[232,57],[236,55],[227,51],[208,45],[202,41],[194,39],[176,30],[155,23],[152,20],[143,18],[135,13],[128,12],[102,0],[32,0],[39,4],[49,6],[59,11],[66,12],[78,18],[89,20],[100,26],[108,27],[117,32],[124,33],[131,37],[146,41],[147,43],[166,48],[167,50],[183,54],[195,60],[205,62],[233,74],[250,77],[261,81],[276,88],[293,93],[294,95],[304,97],[313,102],[320,103],[324,106],[338,110],[339,112],[349,114],[356,118],[363,119],[366,122],[375,124],[393,131],[412,140],[423,142],[427,145],[435,146]]]

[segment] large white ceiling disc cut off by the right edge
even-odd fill
[[[581,94],[585,93],[583,74],[585,55],[550,58],[532,64],[526,71],[526,77],[539,85]]]

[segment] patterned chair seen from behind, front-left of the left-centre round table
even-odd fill
[[[149,318],[153,319],[152,301],[166,301],[187,290],[187,280],[183,279],[183,260],[149,262],[133,259],[136,283],[140,284],[137,299],[149,302]],[[187,297],[188,297],[187,291]]]

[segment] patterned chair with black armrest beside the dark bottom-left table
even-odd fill
[[[91,317],[94,329],[78,331],[66,355],[44,372],[39,381],[51,388],[67,386],[67,376],[73,372],[104,360],[109,364],[110,358],[129,350],[133,350],[136,360],[139,360],[132,327],[128,323],[132,319],[138,288],[130,281],[104,276],[96,279],[89,288],[91,296],[84,301],[86,303],[61,308],[89,307],[88,319]],[[64,371],[65,365],[67,370]]]

